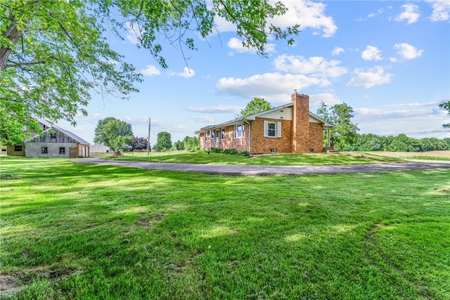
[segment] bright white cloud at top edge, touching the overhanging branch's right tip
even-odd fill
[[[275,2],[273,0],[272,2]],[[333,37],[338,27],[332,17],[325,15],[326,5],[309,0],[283,1],[288,11],[271,20],[274,25],[288,27],[294,24],[302,25],[302,30],[313,28],[320,30],[323,37]]]

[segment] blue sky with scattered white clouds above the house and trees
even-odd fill
[[[133,63],[144,81],[130,100],[93,98],[77,127],[60,126],[94,143],[99,119],[116,117],[150,143],[160,131],[172,142],[203,126],[234,119],[254,97],[272,105],[290,102],[295,89],[321,101],[347,103],[359,133],[405,133],[446,138],[450,117],[438,105],[450,98],[450,1],[284,0],[289,11],[276,25],[300,24],[295,44],[269,41],[267,58],[243,48],[232,25],[217,20],[217,34],[197,39],[198,51],[162,44],[169,68],[136,48],[136,32],[111,47]],[[186,65],[187,64],[187,65]]]

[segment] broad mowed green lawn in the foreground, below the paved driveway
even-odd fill
[[[0,164],[3,299],[450,299],[450,169]]]

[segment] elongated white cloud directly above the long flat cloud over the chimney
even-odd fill
[[[275,70],[295,74],[311,74],[311,76],[340,77],[347,73],[345,67],[340,67],[339,60],[326,60],[321,56],[304,58],[303,56],[282,55],[274,59]]]

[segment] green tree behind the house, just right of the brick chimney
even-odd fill
[[[335,125],[335,128],[330,130],[330,140],[335,149],[344,150],[347,145],[354,143],[359,128],[357,124],[352,123],[352,107],[346,103],[328,107],[322,102],[316,113],[322,119]]]

